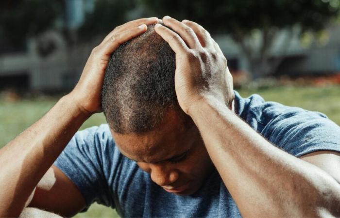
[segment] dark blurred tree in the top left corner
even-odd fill
[[[6,46],[14,49],[25,47],[28,37],[51,29],[62,9],[59,0],[4,2],[0,7],[0,34]]]

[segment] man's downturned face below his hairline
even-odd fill
[[[175,194],[193,194],[214,169],[197,127],[187,129],[172,109],[153,131],[143,134],[112,131],[112,135],[123,155],[150,173],[153,182],[165,190],[176,191]]]

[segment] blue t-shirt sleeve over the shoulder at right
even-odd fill
[[[266,102],[259,95],[239,98],[243,105],[239,116],[289,154],[340,151],[340,127],[323,113]]]

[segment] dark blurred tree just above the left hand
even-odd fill
[[[135,7],[134,0],[96,0],[93,12],[85,15],[85,22],[77,35],[80,40],[90,40],[108,34],[126,22],[126,14]]]

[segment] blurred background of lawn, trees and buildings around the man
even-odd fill
[[[1,0],[0,147],[77,83],[93,47],[129,20],[169,15],[208,30],[247,97],[340,125],[340,0]],[[81,129],[105,123],[92,116]],[[94,204],[77,217],[118,216]]]

